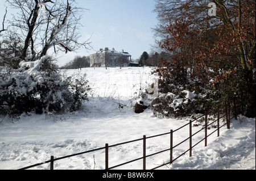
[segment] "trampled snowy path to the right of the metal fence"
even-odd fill
[[[255,119],[232,120],[230,129],[195,148],[191,158],[177,159],[171,169],[255,170]]]

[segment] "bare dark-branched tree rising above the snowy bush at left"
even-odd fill
[[[11,28],[20,33],[24,45],[20,59],[33,61],[54,52],[71,52],[81,47],[90,48],[90,42],[79,43],[81,13],[75,0],[7,0],[19,12],[10,21]]]

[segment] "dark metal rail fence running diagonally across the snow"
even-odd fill
[[[241,106],[241,105],[240,105]],[[86,154],[86,153],[90,153],[90,152],[94,152],[94,151],[98,151],[98,150],[104,150],[105,149],[105,169],[106,170],[109,170],[109,169],[114,169],[116,167],[119,167],[119,166],[122,166],[122,165],[126,165],[128,163],[131,163],[131,162],[135,162],[135,161],[138,161],[138,160],[143,160],[143,170],[146,170],[146,158],[147,157],[151,157],[152,155],[156,155],[156,154],[160,154],[160,153],[163,153],[163,152],[166,152],[166,151],[170,151],[170,162],[167,162],[167,163],[164,163],[162,165],[159,165],[157,167],[154,167],[152,168],[151,170],[154,170],[154,169],[158,169],[159,167],[162,167],[162,166],[165,166],[165,165],[168,165],[168,164],[171,164],[172,162],[174,162],[176,159],[180,158],[182,155],[184,155],[185,153],[187,153],[189,151],[189,157],[192,157],[192,149],[198,145],[200,142],[202,141],[205,141],[205,146],[207,146],[207,138],[212,135],[214,132],[217,131],[217,137],[220,136],[220,128],[224,127],[225,125],[227,125],[227,129],[230,129],[230,120],[233,119],[234,117],[237,119],[237,107],[236,107],[236,102],[234,101],[234,108],[232,109],[234,110],[233,111],[233,114],[234,116],[231,117],[230,116],[230,104],[225,104],[225,114],[223,115],[220,115],[220,109],[217,108],[217,120],[214,120],[212,121],[212,123],[208,124],[208,113],[205,112],[205,115],[201,115],[199,117],[197,117],[196,119],[194,120],[190,120],[189,123],[183,125],[182,127],[180,128],[177,128],[175,130],[172,130],[170,132],[167,132],[167,133],[162,133],[162,134],[157,134],[155,136],[148,136],[146,137],[145,135],[143,136],[143,138],[139,138],[137,140],[131,140],[131,141],[126,141],[126,142],[121,142],[119,144],[114,144],[114,145],[109,145],[109,144],[105,144],[104,147],[102,148],[97,148],[97,149],[93,149],[93,150],[88,150],[88,151],[83,151],[81,153],[76,153],[76,154],[72,154],[72,155],[67,155],[67,156],[64,156],[64,157],[59,157],[59,158],[54,158],[53,156],[51,156],[51,159],[49,159],[48,161],[45,161],[45,162],[42,162],[42,163],[37,163],[35,165],[31,165],[31,166],[27,166],[27,167],[23,167],[22,169],[19,169],[19,170],[26,170],[26,169],[30,169],[32,167],[36,167],[36,166],[40,166],[40,165],[44,165],[46,163],[50,163],[50,170],[53,170],[53,163],[55,161],[58,161],[60,159],[65,159],[65,158],[69,158],[69,157],[74,157],[76,155],[81,155],[81,154]],[[192,123],[196,120],[199,120],[200,118],[204,117],[204,121],[205,121],[205,125],[202,129],[200,129],[199,131],[197,131],[196,133],[193,133],[192,134]],[[220,126],[220,119],[222,118],[225,118],[226,119],[226,123],[221,125]],[[216,123],[217,122],[217,128],[210,134],[208,134],[208,128],[210,125],[212,125],[213,123]],[[179,131],[181,128],[184,128],[186,126],[189,126],[189,137],[188,138],[185,138],[185,140],[179,142],[178,144],[176,144],[175,146],[173,146],[174,142],[173,142],[173,138],[174,138],[174,133]],[[203,131],[205,132],[204,134],[204,138],[201,139],[199,142],[197,142],[195,145],[192,145],[192,137],[195,136],[197,133]],[[170,134],[170,148],[168,149],[165,149],[165,150],[161,150],[161,151],[158,151],[156,153],[152,153],[152,154],[146,154],[146,140],[147,139],[150,139],[150,138],[154,138],[154,137],[159,137],[159,136],[164,136],[164,135],[168,135]],[[189,149],[184,151],[183,153],[181,153],[179,156],[177,156],[176,158],[173,158],[173,151],[174,151],[174,148],[176,148],[177,146],[183,144],[185,141],[189,140]],[[119,145],[124,145],[124,144],[129,144],[131,142],[137,142],[137,141],[143,141],[143,156],[142,157],[139,157],[139,158],[136,158],[136,159],[133,159],[131,161],[127,161],[127,162],[124,162],[124,163],[121,163],[119,165],[115,165],[115,166],[112,166],[112,167],[109,167],[109,148],[112,148],[114,146],[119,146]]]

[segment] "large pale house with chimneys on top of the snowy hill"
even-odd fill
[[[131,54],[128,52],[117,52],[114,48],[110,50],[108,47],[90,55],[90,67],[128,66],[130,61]]]

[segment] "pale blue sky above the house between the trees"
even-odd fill
[[[59,58],[58,64],[64,65],[72,60],[76,54],[88,56],[108,47],[117,51],[124,49],[137,59],[146,51],[150,53],[154,37],[151,28],[158,23],[154,0],[77,0],[79,7],[85,10],[81,24],[80,41],[87,40],[90,36],[94,50],[80,49],[77,53],[68,53]],[[4,0],[0,0],[0,20],[5,11]],[[8,10],[11,17],[12,9]]]

